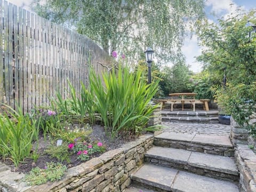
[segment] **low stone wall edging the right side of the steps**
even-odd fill
[[[235,147],[235,160],[240,172],[240,191],[256,191],[256,155],[247,145],[237,144]]]

